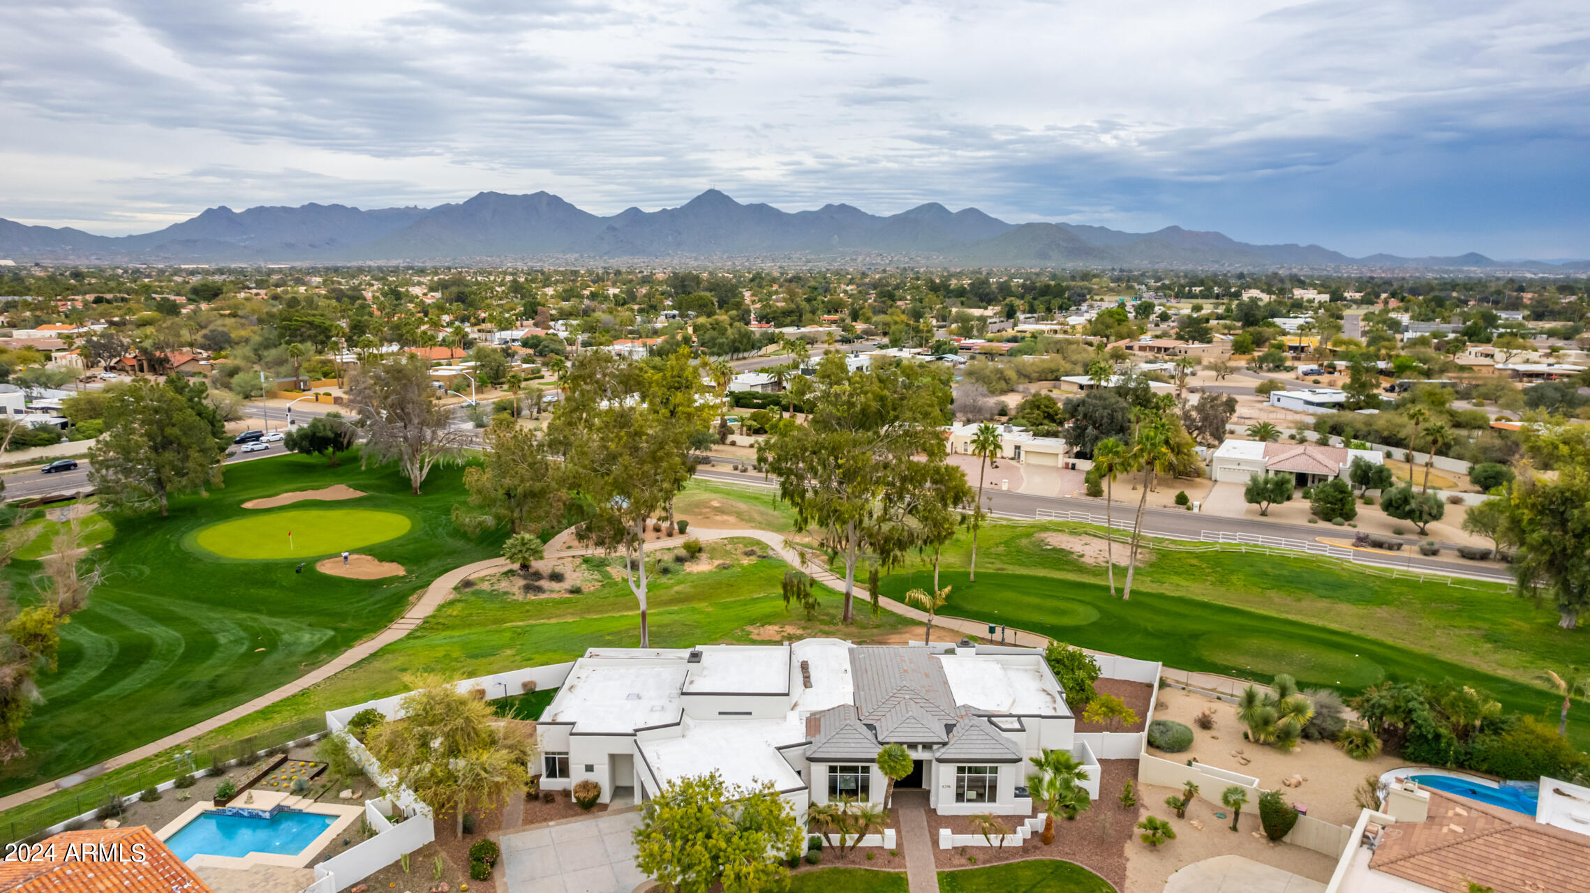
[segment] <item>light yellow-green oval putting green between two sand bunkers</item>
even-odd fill
[[[202,528],[194,543],[223,558],[315,558],[401,537],[410,526],[407,515],[374,508],[270,512]]]

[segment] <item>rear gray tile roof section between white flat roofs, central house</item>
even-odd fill
[[[940,744],[956,721],[956,699],[943,664],[924,647],[860,645],[851,648],[851,678],[860,721],[878,740]]]

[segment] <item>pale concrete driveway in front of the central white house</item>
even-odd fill
[[[631,893],[646,876],[634,868],[639,812],[502,836],[509,893]]]

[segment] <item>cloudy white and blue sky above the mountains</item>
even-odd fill
[[[1590,257],[1584,0],[0,0],[0,218],[706,187]]]

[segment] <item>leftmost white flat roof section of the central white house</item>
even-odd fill
[[[633,733],[679,718],[688,651],[591,658],[574,664],[542,721],[574,723],[582,733]]]

